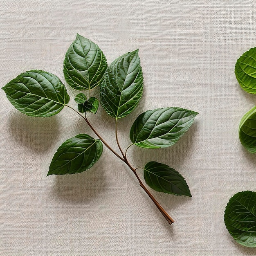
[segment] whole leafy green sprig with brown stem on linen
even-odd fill
[[[139,185],[148,194],[169,224],[173,219],[160,206],[146,188],[137,169],[127,159],[127,150],[132,145],[142,148],[165,148],[175,144],[192,125],[197,112],[184,108],[159,108],[148,110],[135,120],[130,130],[132,144],[124,151],[118,140],[118,119],[126,117],[138,105],[143,92],[143,75],[138,49],[128,52],[107,65],[106,57],[98,45],[77,34],[67,50],[63,72],[66,82],[81,92],[74,100],[77,109],[69,103],[63,83],[54,74],[42,70],[30,70],[18,75],[2,89],[11,104],[20,112],[33,117],[50,117],[64,106],[80,115],[99,139],[79,134],[67,139],[56,151],[47,175],[81,173],[91,168],[101,157],[103,144],[123,161],[135,174]],[[87,114],[96,114],[99,100],[90,97],[90,90],[99,85],[100,104],[115,118],[115,139],[120,153],[113,150],[90,124]],[[145,165],[145,182],[152,189],[173,195],[191,197],[189,187],[180,173],[157,162]]]

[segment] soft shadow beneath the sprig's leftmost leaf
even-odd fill
[[[47,152],[58,138],[58,117],[29,117],[20,112],[9,116],[9,132],[13,139],[31,150]],[[49,121],[50,119],[50,121]]]

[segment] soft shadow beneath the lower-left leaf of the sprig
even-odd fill
[[[83,173],[56,175],[53,193],[66,201],[88,202],[101,196],[105,190],[103,168],[96,163]]]

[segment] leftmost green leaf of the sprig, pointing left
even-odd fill
[[[2,89],[16,109],[31,117],[56,115],[70,100],[61,80],[43,70],[24,72]]]

